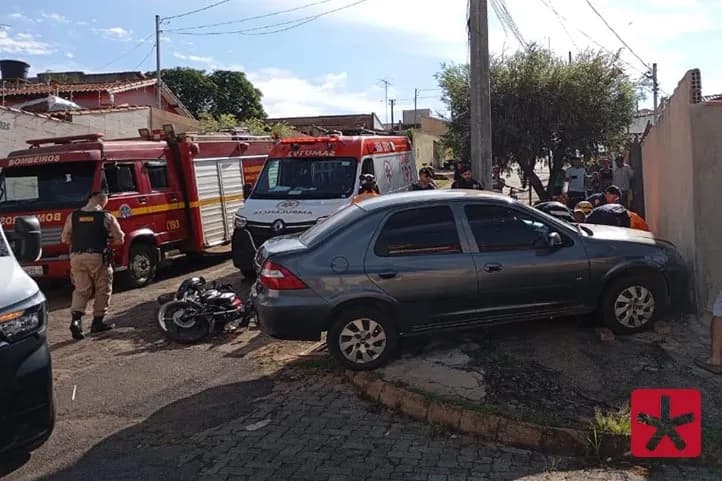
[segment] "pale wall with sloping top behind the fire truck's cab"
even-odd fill
[[[0,157],[5,157],[13,150],[27,148],[25,141],[28,139],[82,135],[95,131],[85,125],[0,107]]]

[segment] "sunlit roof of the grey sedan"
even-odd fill
[[[395,194],[378,195],[366,199],[358,204],[365,211],[373,212],[391,207],[405,207],[431,202],[456,202],[464,200],[486,200],[494,203],[514,203],[514,199],[507,195],[482,190],[466,189],[436,189],[400,192]]]

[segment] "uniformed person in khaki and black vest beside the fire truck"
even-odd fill
[[[104,210],[108,196],[93,192],[88,203],[74,211],[65,220],[61,240],[70,245],[70,277],[73,281],[72,320],[70,333],[73,339],[83,339],[82,317],[91,297],[93,323],[90,332],[103,332],[115,327],[103,321],[113,292],[112,251],[108,238],[114,244],[123,244],[125,234],[113,215]]]

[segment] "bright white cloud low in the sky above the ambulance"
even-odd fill
[[[264,68],[249,72],[248,78],[263,92],[263,106],[271,117],[384,112],[383,101],[379,100],[383,89],[369,86],[350,91],[345,72],[305,79],[288,70]]]

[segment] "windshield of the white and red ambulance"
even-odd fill
[[[349,197],[356,185],[353,158],[269,159],[251,198],[339,199]]]

